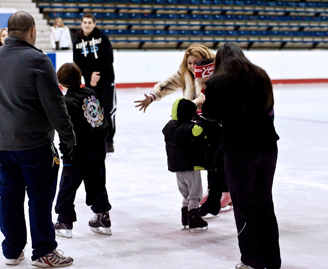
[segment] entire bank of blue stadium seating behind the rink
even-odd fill
[[[98,28],[116,49],[179,49],[193,43],[215,49],[222,42],[238,42],[247,49],[328,48],[328,2],[326,9],[314,5],[317,3],[324,4],[296,0],[39,0],[38,7],[49,24],[56,17],[63,18],[73,35],[84,13],[93,13]]]

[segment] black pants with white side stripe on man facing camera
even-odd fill
[[[108,135],[106,142],[108,144],[113,143],[115,127],[115,115],[116,115],[116,87],[114,81],[105,81],[99,83],[96,87],[92,87],[90,84],[87,87],[92,88],[96,93],[100,101],[100,105],[103,108],[105,118],[108,122]]]

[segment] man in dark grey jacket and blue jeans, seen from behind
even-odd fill
[[[24,259],[27,230],[25,191],[29,197],[32,264],[63,267],[73,259],[56,251],[51,218],[59,159],[55,129],[69,148],[76,143],[56,71],[36,49],[33,17],[19,11],[8,20],[9,37],[0,48],[0,227],[6,264]],[[8,71],[9,70],[9,71]],[[6,74],[6,75],[3,75]],[[2,266],[1,266],[2,267]]]

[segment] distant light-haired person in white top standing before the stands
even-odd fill
[[[50,30],[50,44],[53,50],[73,48],[70,29],[64,25],[60,17],[55,18],[55,23],[51,26]]]

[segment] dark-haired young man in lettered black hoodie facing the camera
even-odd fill
[[[107,152],[114,152],[116,89],[114,83],[113,48],[108,36],[96,27],[91,13],[82,17],[82,29],[73,42],[74,63],[84,76],[86,87],[93,89],[103,104],[108,121]]]

